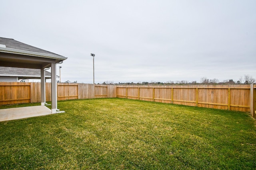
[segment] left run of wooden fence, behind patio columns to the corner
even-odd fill
[[[51,83],[45,84],[46,101],[51,101]],[[58,100],[113,98],[109,85],[57,83]],[[0,105],[41,102],[40,82],[0,82]]]

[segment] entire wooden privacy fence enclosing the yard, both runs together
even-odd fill
[[[250,111],[256,117],[256,85],[216,86],[114,86],[58,83],[58,100],[128,98],[154,102]],[[46,83],[46,101],[51,101],[51,83]],[[0,105],[41,102],[41,84],[0,82]]]

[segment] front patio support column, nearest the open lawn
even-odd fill
[[[51,63],[52,76],[52,113],[57,112],[57,82],[56,82],[56,64]]]

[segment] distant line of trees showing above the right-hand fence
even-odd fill
[[[167,82],[119,82],[114,83],[113,81],[105,81],[102,84],[112,84],[112,85],[163,85],[163,86],[169,86],[169,85],[232,85],[232,84],[252,84],[256,82],[255,78],[249,75],[244,75],[239,78],[239,80],[234,81],[233,79],[223,80],[220,82],[218,79],[208,79],[206,77],[200,78],[200,82],[196,81],[187,81],[187,80],[176,80],[176,81],[167,81]]]

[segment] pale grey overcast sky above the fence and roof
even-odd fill
[[[93,83],[90,53],[95,83],[256,78],[256,0],[5,0],[0,23],[68,57],[61,81]]]

